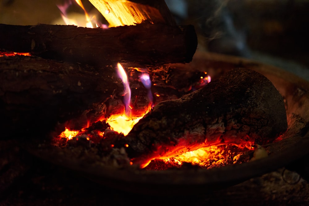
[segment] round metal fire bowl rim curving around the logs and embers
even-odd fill
[[[213,169],[136,170],[93,166],[91,160],[70,159],[55,151],[31,149],[32,153],[55,164],[78,171],[102,185],[136,193],[172,195],[194,194],[220,189],[287,166],[309,154],[309,82],[274,66],[238,57],[196,53],[189,64],[173,67],[198,68],[215,79],[238,67],[264,74],[285,99],[288,131],[283,140],[269,147],[267,158]]]

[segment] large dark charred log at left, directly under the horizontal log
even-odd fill
[[[124,87],[115,66],[95,68],[33,56],[0,57],[1,137],[43,136],[59,123],[59,129],[79,130],[88,122],[121,113]],[[142,114],[150,104],[149,90],[139,80],[141,72],[128,63],[124,68],[130,74],[132,112]],[[156,78],[152,92],[160,95],[154,95],[153,101],[159,103],[190,92],[186,89],[204,73],[160,67],[151,74]],[[166,76],[169,78],[163,79]]]

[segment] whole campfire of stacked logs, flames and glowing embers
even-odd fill
[[[164,1],[90,0],[109,27],[76,2],[86,27],[0,24],[3,135],[35,155],[128,182],[259,162],[307,133],[296,78],[196,52]]]

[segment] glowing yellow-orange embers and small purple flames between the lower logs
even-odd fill
[[[113,131],[116,131],[118,133],[123,133],[125,136],[131,131],[133,126],[151,109],[150,107],[146,108],[144,112],[140,114],[136,114],[136,111],[134,110],[134,107],[132,107],[131,104],[131,90],[129,85],[129,78],[126,74],[125,69],[122,67],[120,63],[117,64],[116,72],[118,74],[118,77],[122,80],[122,83],[124,85],[124,91],[123,91],[123,103],[125,105],[125,110],[122,114],[113,114],[109,116],[108,118],[102,118],[102,120],[105,120],[106,123],[110,125],[110,129]],[[151,80],[149,74],[146,72],[146,70],[140,70],[141,74],[139,75],[139,81],[142,82],[142,84],[145,86],[145,88],[149,91],[148,97],[149,99],[152,98],[151,94]],[[201,80],[208,80],[210,81],[210,77],[206,75],[206,77],[202,77]],[[207,82],[208,82],[207,81]],[[159,94],[154,94],[156,96],[160,96]],[[152,99],[150,99],[152,100]],[[89,127],[90,123],[88,122],[87,127]],[[82,129],[81,131],[86,131],[87,129]],[[65,131],[63,131],[59,137],[65,137],[67,139],[72,139],[73,137],[77,135],[81,135],[81,131],[76,130],[69,130],[66,128]],[[102,139],[104,132],[98,132],[99,138]],[[85,133],[86,134],[86,133]],[[86,136],[86,140],[92,141],[93,137],[90,135],[89,137]],[[98,141],[97,141],[98,142]],[[243,151],[252,150],[253,143],[246,142],[244,145],[219,145],[219,146],[209,146],[204,147],[201,149],[197,149],[194,151],[189,151],[186,153],[183,153],[178,156],[170,155],[165,158],[158,158],[161,159],[160,161],[163,162],[166,165],[178,165],[182,166],[184,163],[191,163],[192,165],[197,165],[200,167],[215,167],[215,166],[221,166],[221,165],[227,165],[227,164],[233,164],[238,161],[239,156],[242,154]],[[243,147],[242,147],[243,146]],[[114,147],[113,144],[111,144],[111,147]],[[124,145],[124,147],[129,147],[128,144]],[[237,149],[235,149],[237,148]],[[150,160],[151,161],[151,160]],[[142,168],[146,167],[149,163],[141,165]],[[133,164],[130,162],[130,164]],[[154,168],[151,164],[147,168]],[[164,166],[161,167],[164,169]]]

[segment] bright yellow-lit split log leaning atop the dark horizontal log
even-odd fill
[[[175,26],[164,0],[89,0],[108,21],[110,27],[139,24],[144,21]]]

